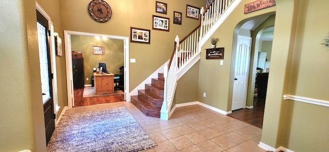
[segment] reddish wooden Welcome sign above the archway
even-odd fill
[[[275,0],[259,0],[245,5],[245,14],[264,8],[276,6]]]

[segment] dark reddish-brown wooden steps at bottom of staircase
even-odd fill
[[[151,84],[145,84],[145,89],[138,90],[137,96],[131,96],[131,102],[145,116],[160,118],[164,83],[163,73],[158,73],[158,78],[153,78]]]

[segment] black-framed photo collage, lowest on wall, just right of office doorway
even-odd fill
[[[130,42],[150,44],[150,30],[130,27]]]

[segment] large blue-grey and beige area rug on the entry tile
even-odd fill
[[[156,143],[125,107],[62,115],[47,151],[142,151]]]

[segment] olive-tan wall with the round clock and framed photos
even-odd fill
[[[106,23],[95,22],[88,14],[90,0],[60,0],[61,30],[99,33],[106,35],[130,36],[130,27],[149,29],[151,44],[130,43],[130,90],[132,91],[156,69],[169,60],[175,36],[181,38],[197,26],[198,21],[186,18],[186,5],[202,7],[206,1],[161,1],[167,3],[167,14],[155,12],[155,1],[111,1],[113,15]],[[173,24],[173,11],[182,12],[182,24]],[[170,18],[170,32],[152,29],[152,15]],[[138,75],[138,77],[137,77]]]

